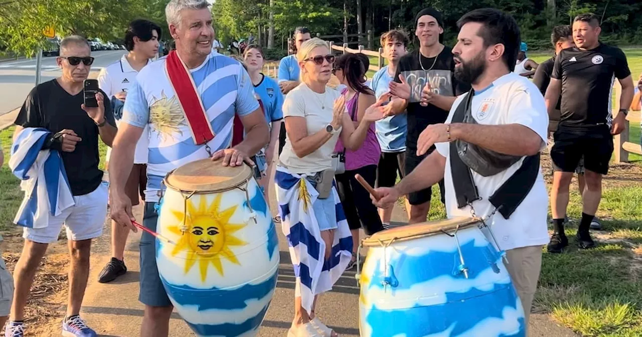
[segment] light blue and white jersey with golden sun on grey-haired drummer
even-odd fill
[[[149,125],[149,156],[145,201],[159,201],[162,179],[172,169],[209,157],[205,144],[195,145],[174,89],[165,71],[166,58],[144,67],[128,91],[121,121]],[[212,51],[189,73],[214,132],[207,142],[212,153],[232,143],[234,113],[246,116],[259,108],[254,86],[237,60]]]

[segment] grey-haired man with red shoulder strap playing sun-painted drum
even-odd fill
[[[141,70],[125,102],[109,163],[111,217],[134,232],[125,183],[145,126],[150,128],[150,148],[143,225],[151,230],[156,229],[154,206],[159,202],[161,181],[169,171],[209,156],[224,158],[223,166],[241,166],[269,140],[247,72],[236,60],[212,49],[209,6],[206,0],[168,3],[165,12],[176,50]],[[247,137],[229,148],[235,114]],[[141,336],[168,336],[173,307],[159,277],[155,238],[144,232],[140,248],[139,300],[145,304]]]

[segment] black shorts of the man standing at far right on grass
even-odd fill
[[[609,160],[613,154],[613,136],[609,127],[587,130],[569,129],[560,126],[553,134],[555,144],[551,148],[553,169],[575,172],[584,157],[584,169],[605,175],[609,172]]]

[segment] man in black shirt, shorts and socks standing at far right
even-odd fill
[[[595,246],[589,227],[602,198],[602,175],[609,171],[613,153],[612,135],[624,128],[627,108],[611,116],[611,89],[614,78],[622,87],[620,107],[633,99],[633,80],[627,57],[620,48],[600,43],[599,19],[593,13],[578,15],[573,21],[575,47],[564,49],[555,58],[551,82],[544,99],[548,113],[560,104],[560,123],[553,135],[553,189],[551,211],[553,229],[548,251],[559,253],[568,245],[564,217],[569,200],[573,171],[584,156],[586,188],[582,193],[582,220],[577,232],[580,248]]]

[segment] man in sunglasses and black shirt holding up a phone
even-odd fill
[[[116,122],[103,92],[96,94],[98,107],[85,107],[83,81],[94,60],[87,40],[79,36],[60,42],[56,59],[62,76],[31,90],[15,119],[15,137],[23,128],[46,128],[51,132],[42,150],[58,150],[66,171],[74,205],[58,216],[49,215],[48,226],[24,228],[24,249],[14,272],[15,291],[7,336],[22,336],[23,309],[35,272],[49,243],[58,240],[64,224],[69,239],[71,272],[69,301],[62,323],[65,336],[96,336],[80,319],[80,306],[89,276],[91,239],[102,234],[107,216],[107,186],[98,169],[98,136],[111,146]]]

